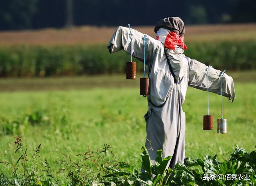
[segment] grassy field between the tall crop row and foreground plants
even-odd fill
[[[227,134],[217,134],[216,122],[214,131],[202,130],[203,115],[207,114],[207,94],[188,88],[183,104],[186,157],[218,154],[218,160],[226,160],[235,144],[248,152],[255,149],[255,72],[231,75],[237,98],[233,103],[224,98]],[[54,162],[64,156],[62,153],[76,158],[89,146],[96,150],[102,149],[104,144],[112,147],[118,161],[140,166],[140,148],[146,137],[143,116],[147,100],[139,96],[138,80],[125,80],[125,75],[6,78],[0,80],[0,85],[0,161],[12,162],[19,158],[20,155],[14,153],[15,137],[19,135],[28,148],[28,160],[34,148],[42,144],[39,166],[43,167],[46,159],[54,175],[60,169]],[[210,93],[210,114],[214,115],[214,120],[220,118],[220,104],[220,96]],[[8,168],[0,164],[0,171],[5,174],[10,172]]]

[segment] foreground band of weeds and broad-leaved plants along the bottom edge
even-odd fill
[[[162,150],[157,151],[153,164],[148,151],[142,147],[141,168],[127,162],[118,162],[110,145],[103,150],[93,152],[90,148],[75,158],[64,153],[55,163],[59,171],[51,171],[50,164],[44,160],[43,167],[38,166],[39,145],[29,160],[27,148],[22,138],[16,137],[15,153],[18,160],[0,163],[10,166],[11,172],[0,175],[0,186],[254,186],[256,184],[256,150],[251,153],[236,146],[229,160],[218,162],[217,155],[206,155],[203,159],[186,158],[184,164],[177,163],[174,169],[168,167],[171,156],[162,158]],[[39,169],[43,171],[38,173]],[[65,179],[58,179],[64,174]],[[226,175],[220,179],[219,175]],[[234,175],[242,176],[235,179]],[[214,177],[215,176],[215,177]],[[229,177],[228,177],[229,176]],[[232,176],[232,177],[231,177]]]

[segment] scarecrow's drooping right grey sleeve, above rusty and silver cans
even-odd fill
[[[206,76],[206,66],[198,62],[197,60],[192,60],[188,58],[189,66],[189,82],[188,86],[198,88],[200,90],[207,91],[207,76]],[[220,70],[216,70],[212,67],[208,70],[208,87],[210,92],[216,94],[221,94],[221,78]],[[228,97],[228,99],[233,102],[236,94],[234,88],[233,78],[227,74],[222,76],[222,95]]]

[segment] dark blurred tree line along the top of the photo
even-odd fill
[[[67,25],[154,25],[181,17],[185,24],[256,22],[251,0],[0,0],[0,30]]]

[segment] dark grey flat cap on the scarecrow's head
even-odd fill
[[[168,17],[161,19],[155,26],[155,33],[159,28],[165,28],[183,36],[185,34],[184,22],[179,17]]]

